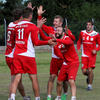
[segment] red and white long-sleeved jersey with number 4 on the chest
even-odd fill
[[[79,35],[79,40],[77,41],[77,49],[80,49],[82,41],[82,56],[89,57],[92,56],[92,50],[96,49],[96,51],[100,50],[100,36],[99,34],[92,30],[88,33],[86,30],[81,31]],[[96,42],[98,43],[98,47],[96,48]]]

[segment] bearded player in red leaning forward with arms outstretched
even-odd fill
[[[61,99],[62,83],[68,81],[71,87],[72,97],[71,100],[76,100],[76,85],[75,79],[79,68],[79,59],[76,53],[74,43],[69,36],[66,36],[62,27],[57,27],[54,41],[57,42],[56,52],[58,55],[62,54],[64,57],[63,66],[60,69],[57,79],[57,98]]]

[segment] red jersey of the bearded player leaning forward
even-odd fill
[[[64,36],[63,39],[57,39],[57,42],[58,43],[56,48],[61,51],[65,62],[78,60],[78,55],[76,53],[74,43],[69,36]],[[55,51],[55,53],[59,53],[57,55],[61,55],[58,50],[57,52]]]

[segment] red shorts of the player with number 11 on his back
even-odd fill
[[[15,74],[37,74],[36,61],[34,57],[14,55],[13,63],[15,65]]]

